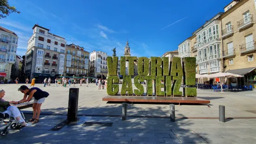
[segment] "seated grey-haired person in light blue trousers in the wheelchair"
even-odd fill
[[[31,126],[31,124],[26,123],[24,118],[22,118],[20,110],[16,106],[11,106],[10,104],[15,103],[14,101],[5,101],[3,97],[5,96],[5,91],[0,89],[0,112],[5,115],[14,116],[18,125],[21,126]],[[8,116],[7,115],[7,116]]]

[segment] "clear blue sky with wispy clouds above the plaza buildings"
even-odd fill
[[[33,2],[32,2],[33,1]],[[25,55],[34,24],[86,51],[122,56],[126,39],[132,56],[162,56],[231,0],[9,0],[21,13],[0,20],[19,36],[17,54]]]

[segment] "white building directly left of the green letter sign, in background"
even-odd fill
[[[90,53],[89,76],[105,79],[107,77],[107,53],[93,51]]]

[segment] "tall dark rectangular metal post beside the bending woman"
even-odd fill
[[[68,97],[67,120],[77,121],[79,88],[70,88]]]

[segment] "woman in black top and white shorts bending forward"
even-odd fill
[[[34,97],[33,102],[33,117],[29,120],[32,123],[39,122],[39,116],[41,113],[41,106],[45,102],[45,99],[49,96],[48,92],[44,92],[37,87],[28,88],[26,85],[21,85],[18,91],[24,93],[23,99],[13,104],[25,103]]]

